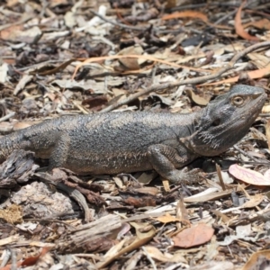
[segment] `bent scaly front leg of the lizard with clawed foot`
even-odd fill
[[[195,158],[194,155],[188,155],[184,148],[183,151],[181,148],[178,150],[183,152],[182,156],[175,148],[163,144],[148,147],[148,158],[153,168],[159,175],[174,184],[180,184],[182,180],[191,181],[194,179],[193,173],[198,172],[195,169],[189,173],[184,173],[176,169],[176,167],[184,166]]]

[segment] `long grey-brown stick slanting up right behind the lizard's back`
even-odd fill
[[[121,107],[124,104],[127,104],[127,103],[130,103],[131,101],[134,101],[139,96],[144,95],[144,94],[148,94],[150,92],[156,92],[156,91],[164,90],[166,88],[173,88],[173,87],[179,86],[179,85],[197,85],[197,84],[202,84],[208,80],[216,79],[216,78],[220,77],[224,72],[231,69],[236,64],[238,59],[247,55],[247,53],[249,53],[251,51],[254,51],[254,50],[260,49],[260,48],[264,48],[264,47],[270,47],[270,41],[264,41],[261,43],[257,43],[257,44],[254,44],[252,46],[247,47],[246,49],[243,49],[242,51],[238,52],[233,58],[231,58],[231,60],[229,61],[229,63],[225,67],[220,68],[220,71],[218,71],[215,74],[194,77],[191,79],[185,79],[185,80],[181,80],[181,81],[176,81],[175,83],[152,85],[152,86],[148,87],[147,89],[145,89],[144,91],[140,91],[139,93],[136,93],[136,94],[131,94],[129,97],[121,100],[120,102],[114,103],[114,104],[104,108],[101,112],[110,112],[116,108]]]

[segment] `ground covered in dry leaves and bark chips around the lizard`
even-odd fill
[[[2,136],[67,114],[194,112],[239,82],[270,94],[269,1],[3,0],[0,22]],[[237,145],[188,166],[195,183],[47,174],[15,151],[0,269],[270,269],[269,117],[267,100]]]

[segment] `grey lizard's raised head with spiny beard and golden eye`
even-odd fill
[[[263,88],[235,85],[202,110],[196,131],[183,139],[188,148],[202,156],[216,156],[242,139],[266,101]]]

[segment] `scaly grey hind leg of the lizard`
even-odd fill
[[[55,167],[65,167],[67,162],[70,137],[67,132],[60,132],[56,138],[55,147],[49,157],[49,172]]]

